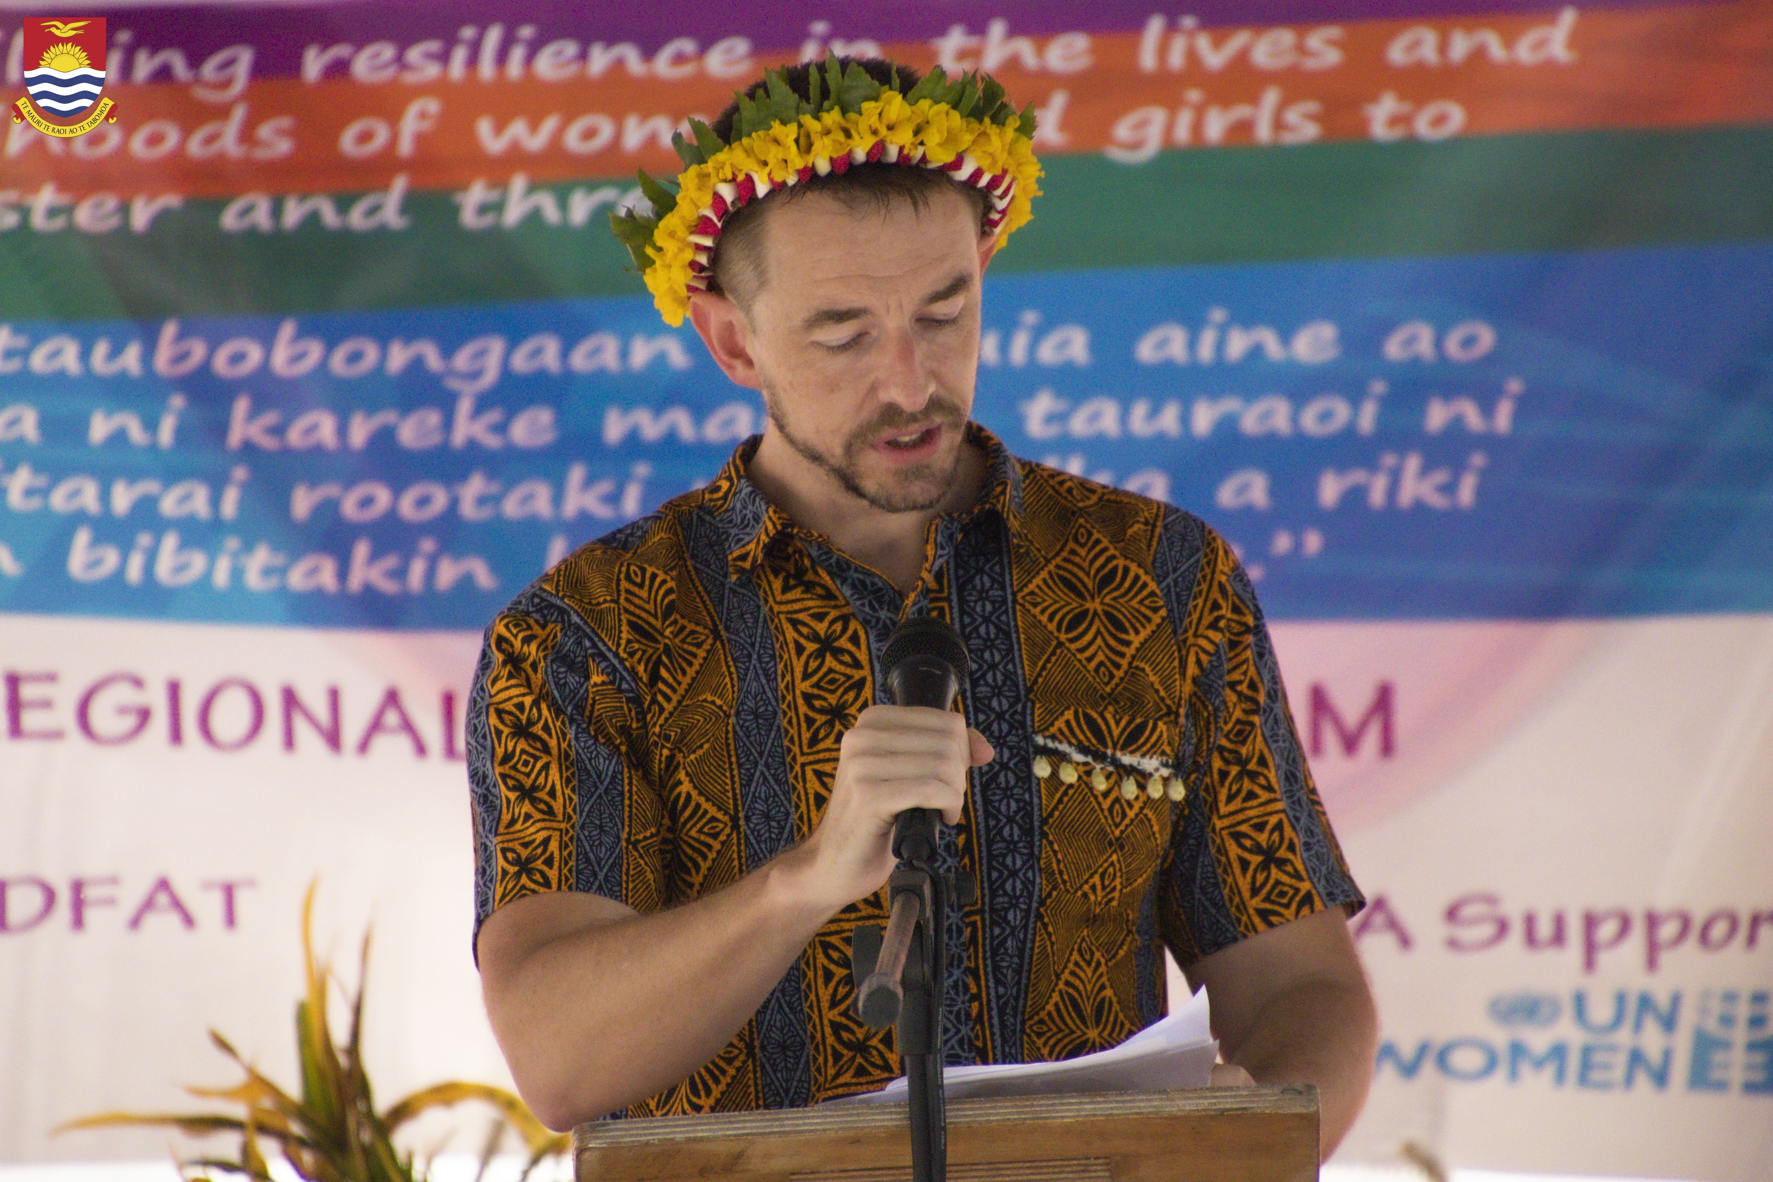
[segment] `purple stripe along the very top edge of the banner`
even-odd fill
[[[1606,0],[1578,5],[1583,11],[1697,7],[1725,0]],[[746,11],[746,7],[750,11]],[[722,37],[748,37],[759,53],[773,58],[793,57],[810,35],[821,44],[837,39],[931,41],[954,25],[970,34],[984,34],[993,18],[1009,21],[1007,34],[1048,35],[1058,32],[1113,34],[1135,32],[1147,18],[1193,16],[1207,27],[1225,25],[1314,25],[1360,19],[1411,19],[1447,16],[1498,16],[1557,12],[1562,5],[1548,0],[1193,0],[1161,4],[1156,0],[1025,0],[1005,5],[1000,0],[879,0],[840,4],[787,0],[771,5],[711,5],[704,0],[654,0],[651,4],[603,5],[594,16],[587,7],[566,0],[511,4],[509,0],[466,0],[440,11],[411,4],[316,4],[291,7],[257,5],[181,5],[98,9],[110,21],[112,48],[165,50],[177,46],[193,66],[209,53],[239,43],[255,50],[255,78],[287,78],[301,69],[303,50],[310,44],[353,44],[392,41],[408,46],[436,39],[447,53],[461,28],[484,30],[504,25],[509,46],[519,27],[534,25],[530,46],[573,37],[587,41],[633,41],[652,53],[667,41],[691,37],[702,50]],[[819,28],[823,27],[823,28]],[[18,18],[0,16],[0,46],[14,48]],[[124,37],[128,34],[128,37]],[[131,58],[133,60],[133,58]],[[122,69],[112,71],[113,83],[128,83]],[[335,64],[328,76],[342,69]],[[154,74],[165,82],[163,67]]]

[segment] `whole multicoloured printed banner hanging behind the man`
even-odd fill
[[[608,214],[830,50],[1035,105],[975,416],[1257,583],[1372,900],[1342,1161],[1773,1173],[1768,5],[193,4],[0,50],[64,105],[0,124],[0,1161],[161,1155],[51,1129],[190,1108],[206,1028],[293,1081],[316,875],[346,978],[374,925],[378,1092],[509,1083],[479,633],[764,425]]]

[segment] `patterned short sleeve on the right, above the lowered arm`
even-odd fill
[[[1365,902],[1312,783],[1255,588],[1223,539],[1200,523],[1191,532],[1193,578],[1172,604],[1188,794],[1158,891],[1160,934],[1183,964]]]

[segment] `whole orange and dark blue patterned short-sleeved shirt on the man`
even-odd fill
[[[966,642],[961,707],[996,750],[941,859],[947,1063],[1062,1060],[1165,1012],[1188,964],[1362,898],[1287,712],[1262,615],[1199,517],[1012,459],[984,429],[979,502],[936,517],[910,595],[764,500],[757,439],[707,487],[583,546],[486,631],[468,712],[477,923],[535,891],[642,914],[808,836],[839,739],[883,702],[910,613]],[[732,1042],[629,1108],[816,1104],[899,1074],[853,1012],[844,907]]]

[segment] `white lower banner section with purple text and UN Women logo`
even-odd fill
[[[1344,1150],[1773,1177],[1773,617],[1278,624],[1372,904],[1383,1046]],[[0,617],[0,1161],[147,1159],[112,1108],[291,1081],[298,913],[374,927],[383,1100],[507,1083],[470,957],[472,633]],[[463,1116],[479,1136],[482,1118]]]

